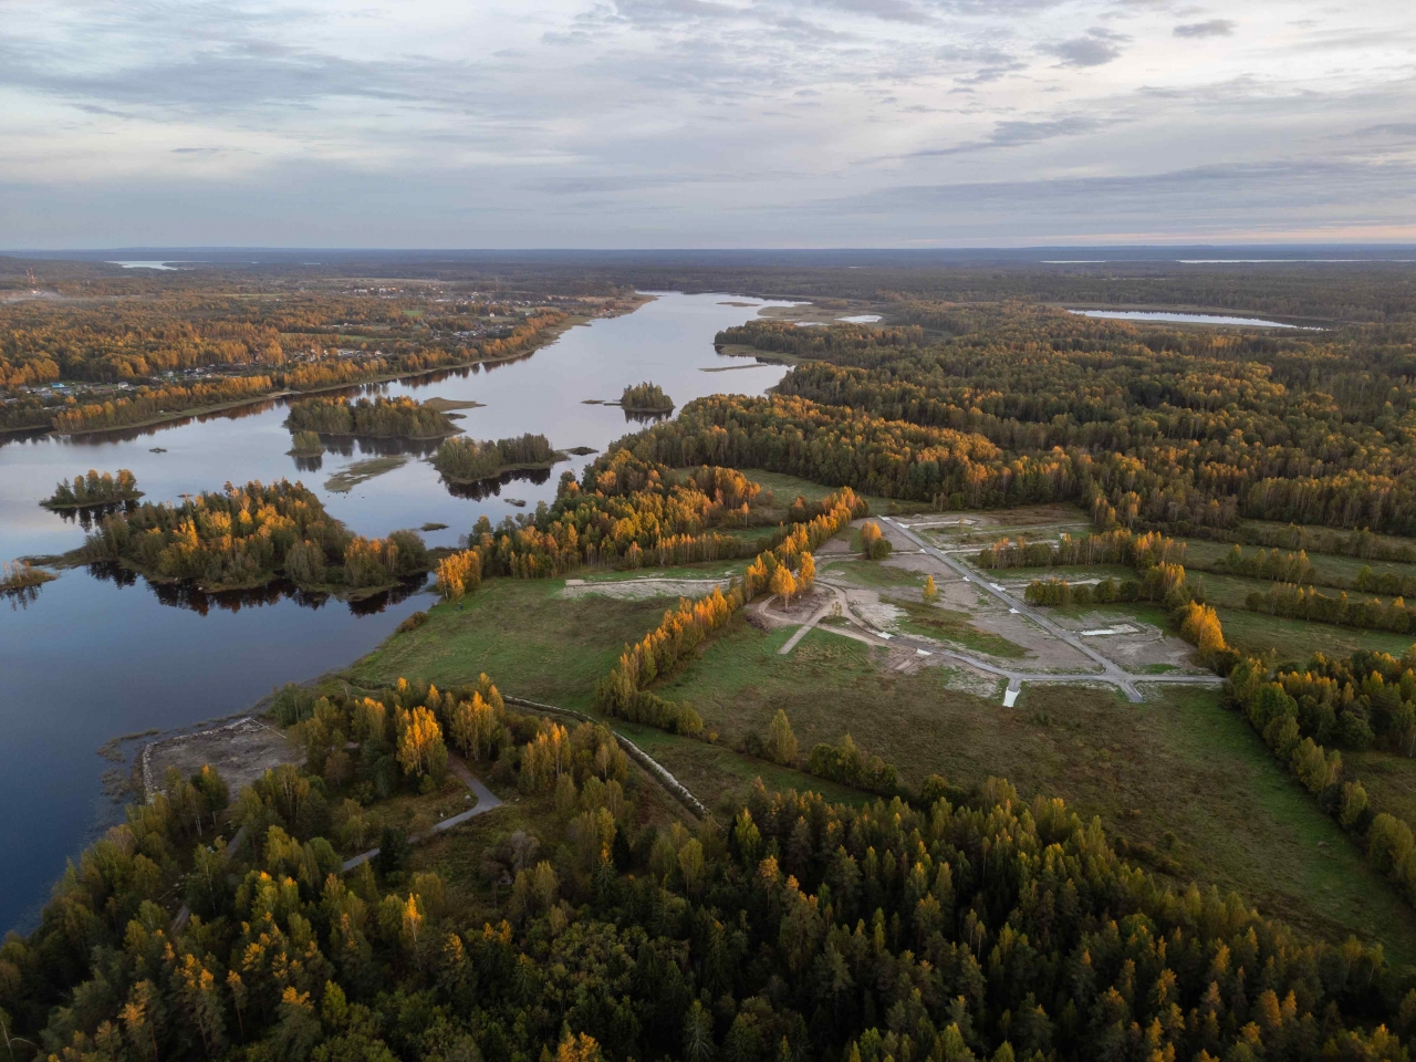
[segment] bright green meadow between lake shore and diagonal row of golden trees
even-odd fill
[[[455,605],[429,609],[416,630],[394,634],[347,671],[360,685],[399,677],[438,685],[486,671],[507,694],[588,709],[596,680],[626,641],[664,617],[664,599],[562,598],[562,579],[487,579]]]

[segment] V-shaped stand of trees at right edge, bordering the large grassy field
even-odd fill
[[[1331,738],[1364,749],[1374,739],[1405,756],[1416,752],[1416,660],[1366,650],[1330,661],[1321,653],[1303,671],[1272,673],[1259,660],[1238,664],[1228,700],[1263,736],[1318,806],[1358,841],[1368,861],[1416,905],[1416,838],[1410,824],[1369,806],[1359,780],[1342,780]],[[1375,731],[1375,735],[1374,735]]]

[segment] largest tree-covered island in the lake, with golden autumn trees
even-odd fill
[[[302,588],[368,589],[428,571],[413,531],[387,538],[351,534],[299,483],[227,484],[180,506],[143,503],[105,515],[88,535],[89,561],[123,561],[204,589],[253,586],[282,573]]]

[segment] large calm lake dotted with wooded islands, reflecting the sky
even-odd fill
[[[603,449],[640,423],[617,406],[629,384],[653,381],[680,406],[711,394],[762,394],[784,365],[716,354],[714,336],[755,310],[724,295],[658,295],[623,317],[568,330],[515,361],[455,370],[351,394],[481,402],[457,411],[477,439],[544,432],[561,449]],[[756,302],[760,306],[786,303]],[[715,371],[702,371],[715,370]],[[86,438],[0,435],[0,559],[59,554],[84,542],[79,521],[40,507],[59,479],[88,469],[130,469],[146,500],[245,483],[300,479],[329,511],[362,535],[442,523],[429,545],[456,545],[486,514],[493,523],[549,503],[576,457],[534,479],[452,493],[426,463],[426,445],[330,440],[319,459],[295,459],[282,426],[286,399],[201,418]],[[154,452],[161,450],[161,452]],[[378,455],[406,463],[348,493],[326,479]],[[313,466],[319,467],[313,467]],[[480,493],[483,497],[470,494]],[[525,507],[511,504],[525,503]],[[50,884],[108,824],[122,818],[105,796],[98,755],[110,738],[169,731],[249,708],[270,688],[343,667],[374,649],[409,613],[428,607],[425,588],[353,606],[259,593],[202,595],[154,588],[123,572],[79,568],[38,588],[33,600],[0,598],[0,932],[33,927]],[[130,746],[132,748],[132,743]]]

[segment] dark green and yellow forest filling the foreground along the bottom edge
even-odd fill
[[[990,779],[851,807],[759,783],[731,826],[636,830],[590,742],[538,729],[548,756],[569,746],[544,772],[565,840],[487,852],[513,885],[476,915],[433,872],[341,878],[279,779],[246,790],[229,821],[270,821],[229,862],[174,797],[133,807],[0,944],[13,1035],[65,1062],[1406,1056],[1416,994],[1379,949],[1177,892],[1061,800]],[[200,910],[173,927],[194,844]]]

